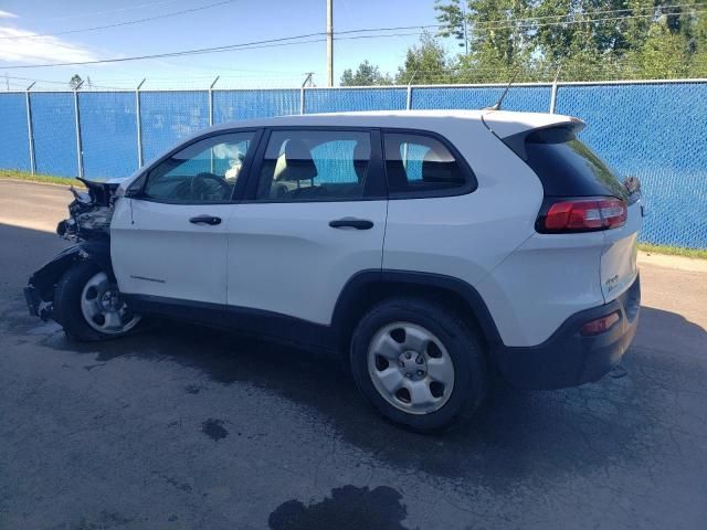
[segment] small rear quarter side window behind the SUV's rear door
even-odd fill
[[[387,132],[384,145],[391,195],[454,192],[467,184],[458,161],[436,138],[423,134]]]

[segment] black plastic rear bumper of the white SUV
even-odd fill
[[[541,344],[527,348],[502,347],[496,351],[503,378],[514,386],[561,389],[597,381],[623,357],[639,326],[641,280],[615,300],[572,315]],[[583,337],[580,328],[613,311],[620,315],[601,335]]]

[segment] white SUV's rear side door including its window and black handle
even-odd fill
[[[380,135],[274,128],[228,227],[228,304],[329,324],[360,271],[380,271],[387,197]]]

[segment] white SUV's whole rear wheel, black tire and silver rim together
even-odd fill
[[[471,415],[487,388],[473,330],[444,305],[416,298],[383,301],[361,319],[351,368],[378,411],[418,431]]]

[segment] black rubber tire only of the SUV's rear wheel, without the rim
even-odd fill
[[[369,374],[368,350],[372,338],[386,326],[400,321],[434,333],[452,359],[454,386],[446,403],[434,412],[412,414],[393,406],[379,393]],[[366,399],[388,420],[418,432],[439,431],[472,416],[488,388],[484,352],[475,331],[456,312],[435,300],[401,297],[374,306],[354,331],[350,362],[354,379]]]

